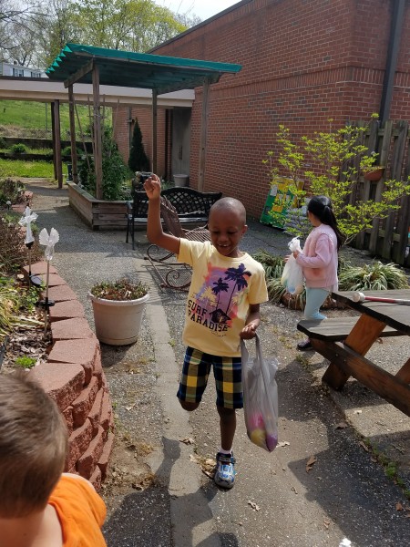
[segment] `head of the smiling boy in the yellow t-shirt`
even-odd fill
[[[210,208],[208,220],[210,241],[220,254],[234,258],[238,256],[238,245],[248,230],[246,210],[235,198],[221,198]]]

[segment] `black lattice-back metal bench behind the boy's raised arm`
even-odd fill
[[[183,225],[207,224],[210,208],[220,200],[222,192],[198,191],[194,188],[176,186],[161,191],[161,196],[175,207],[179,222]],[[132,201],[127,202],[127,238],[131,235],[134,249],[134,231],[137,225],[146,226],[149,199],[145,191],[134,191]]]

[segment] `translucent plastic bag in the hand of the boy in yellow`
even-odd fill
[[[256,356],[250,357],[241,340],[243,409],[246,432],[251,442],[272,452],[278,444],[278,361],[264,359],[256,336]]]

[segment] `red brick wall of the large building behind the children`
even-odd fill
[[[253,0],[152,53],[239,63],[211,87],[205,191],[241,199],[259,217],[261,161],[284,123],[295,136],[378,112],[391,25],[388,0]],[[410,6],[406,3],[392,119],[410,118]],[[192,108],[190,186],[198,184],[201,88]],[[149,126],[141,128],[149,134]],[[148,138],[148,137],[147,137]],[[160,145],[159,145],[160,149]],[[251,188],[251,192],[250,192]]]

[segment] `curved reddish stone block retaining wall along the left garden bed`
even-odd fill
[[[46,262],[31,273],[46,282]],[[24,268],[28,279],[28,266]],[[82,475],[98,489],[105,480],[114,441],[108,384],[99,342],[89,328],[83,305],[50,265],[48,298],[53,346],[46,363],[30,375],[63,412],[69,432],[66,471]]]

